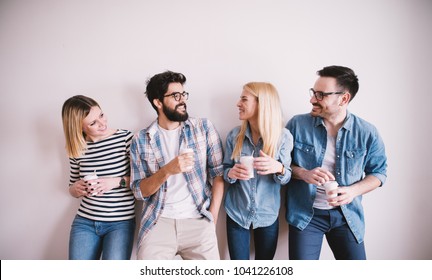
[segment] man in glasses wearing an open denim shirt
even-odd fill
[[[386,180],[384,143],[372,124],[347,109],[359,88],[354,71],[328,66],[317,74],[312,111],[286,125],[294,137],[287,185],[289,258],[319,259],[325,235],[335,259],[364,260],[361,200]],[[329,181],[339,185],[335,198],[326,196]]]

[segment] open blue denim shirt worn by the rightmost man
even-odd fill
[[[320,117],[310,114],[294,116],[286,125],[294,137],[292,162],[305,169],[322,165],[327,130]],[[340,186],[350,185],[372,175],[381,181],[386,180],[387,157],[384,143],[377,129],[365,120],[347,113],[344,125],[336,136],[335,177]],[[301,180],[292,179],[287,188],[286,219],[290,225],[303,230],[313,217],[313,202],[316,186]],[[357,242],[363,242],[365,223],[361,204],[362,196],[342,205],[342,212]]]

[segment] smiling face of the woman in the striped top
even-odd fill
[[[98,106],[91,107],[89,114],[82,122],[82,130],[87,140],[95,142],[108,136],[110,131],[107,123],[107,118],[102,110]]]

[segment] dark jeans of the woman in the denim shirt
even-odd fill
[[[279,219],[268,227],[245,229],[227,215],[228,250],[232,260],[249,260],[253,231],[256,260],[272,260],[279,236]]]

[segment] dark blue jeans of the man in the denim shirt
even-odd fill
[[[357,242],[339,207],[314,208],[314,216],[304,230],[289,226],[289,259],[318,260],[324,235],[336,260],[366,259],[364,242]]]

